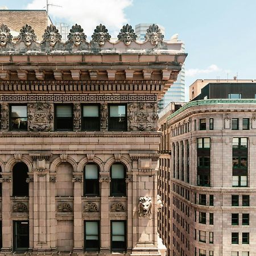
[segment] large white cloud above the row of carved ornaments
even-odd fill
[[[44,3],[42,0],[32,0],[27,9],[42,10],[46,5]],[[52,0],[49,3],[62,6],[49,6],[49,15],[56,22],[80,24],[89,38],[94,28],[102,23],[108,28],[110,35],[116,38],[117,35],[112,32],[120,31],[128,23],[124,10],[133,4],[133,0]]]

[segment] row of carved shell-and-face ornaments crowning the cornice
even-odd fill
[[[118,41],[123,42],[126,46],[129,46],[131,42],[136,42],[138,36],[135,34],[134,29],[129,24],[126,24],[121,28],[121,31],[117,37]],[[147,29],[145,35],[146,42],[150,41],[153,46],[156,46],[159,42],[163,42],[163,37],[164,36],[156,24],[152,24]],[[87,36],[84,34],[83,28],[79,24],[75,24],[72,26],[68,34],[67,42],[71,42],[75,46],[80,46],[82,42],[86,42],[86,38]],[[105,42],[110,40],[110,38],[111,35],[109,34],[108,29],[104,25],[100,24],[95,28],[91,42],[96,43],[99,46],[103,46]],[[67,43],[61,41],[59,30],[57,30],[57,28],[52,24],[47,26],[41,42],[36,41],[37,36],[35,31],[28,24],[22,27],[18,39],[19,42],[23,42],[27,47],[31,46],[32,42],[36,42],[37,44],[47,42],[51,47],[54,47],[57,42],[61,42],[63,45]],[[7,43],[13,42],[12,40],[13,36],[10,33],[10,28],[8,28],[5,24],[1,24],[0,47],[5,47]],[[16,43],[14,43],[14,45],[15,44]]]

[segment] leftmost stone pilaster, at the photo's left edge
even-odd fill
[[[12,223],[11,223],[11,191],[13,191],[11,183],[11,174],[9,172],[2,173],[2,178],[0,179],[2,183],[2,233],[3,245],[2,253],[8,253],[12,250]]]

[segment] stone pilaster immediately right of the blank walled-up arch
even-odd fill
[[[81,252],[84,246],[82,240],[82,172],[74,172],[72,182],[74,183],[74,249]]]

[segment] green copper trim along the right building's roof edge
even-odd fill
[[[182,106],[180,109],[175,111],[173,114],[169,115],[167,121],[171,118],[174,118],[177,114],[183,112],[185,109],[191,108],[193,106],[203,106],[203,105],[216,105],[216,104],[256,104],[256,100],[229,100],[229,99],[219,99],[219,100],[200,100],[200,101],[191,101]]]

